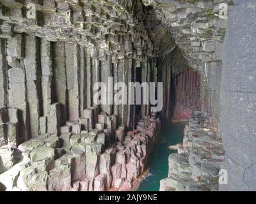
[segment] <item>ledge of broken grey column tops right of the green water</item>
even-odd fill
[[[218,191],[225,152],[212,129],[210,115],[193,113],[178,154],[169,156],[168,178],[161,180],[160,191]]]

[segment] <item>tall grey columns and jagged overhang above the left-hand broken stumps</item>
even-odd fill
[[[147,31],[142,22],[133,24],[132,1],[35,1],[36,19],[26,18],[29,1],[1,3],[0,105],[19,110],[20,142],[47,133],[54,103],[60,103],[60,126],[96,107],[96,82],[108,89],[113,77],[128,85],[135,82],[136,68],[143,82],[157,75]],[[100,105],[100,111],[115,114],[118,125],[135,126],[132,105]],[[149,106],[141,114],[148,115]]]

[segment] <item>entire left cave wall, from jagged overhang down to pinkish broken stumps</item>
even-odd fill
[[[136,4],[0,3],[0,191],[131,189],[161,122],[150,104],[136,112],[127,103],[97,105],[93,96],[97,82],[107,96],[118,92],[109,77],[127,87],[137,73],[141,82],[158,81]]]

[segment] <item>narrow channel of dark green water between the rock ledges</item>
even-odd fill
[[[168,157],[175,150],[168,146],[182,143],[184,136],[184,123],[173,123],[172,126],[163,128],[163,133],[148,161],[148,174],[141,180],[138,191],[159,191],[160,180],[168,176]]]

